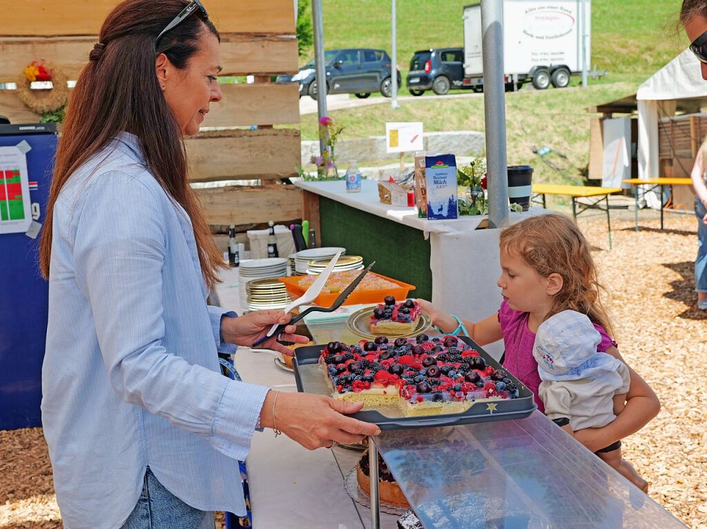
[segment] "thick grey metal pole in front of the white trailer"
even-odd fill
[[[503,81],[503,3],[481,0],[481,54],[484,58],[486,170],[489,174],[489,227],[508,218],[506,94]]]

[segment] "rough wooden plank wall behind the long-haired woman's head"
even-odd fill
[[[76,79],[98,42],[98,30],[116,0],[0,0],[0,83],[14,82],[30,61],[44,58]],[[298,70],[292,0],[205,0],[221,32],[221,76],[255,76],[255,84],[221,85],[202,131],[187,139],[192,182],[259,179],[275,184],[300,162],[296,83],[269,76]],[[13,90],[0,90],[0,114],[12,123],[38,120]],[[257,125],[257,130],[244,129]],[[274,126],[279,126],[274,128]],[[301,218],[300,191],[286,184],[199,189],[213,225],[253,225]],[[269,206],[271,204],[271,206]],[[297,213],[295,215],[295,213]],[[294,215],[294,216],[293,216]]]

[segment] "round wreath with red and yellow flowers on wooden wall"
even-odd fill
[[[33,90],[30,88],[33,81],[52,81],[53,88]],[[52,68],[45,61],[33,61],[17,80],[17,95],[25,106],[37,114],[54,112],[66,105],[66,101],[69,100],[66,75],[58,68]]]

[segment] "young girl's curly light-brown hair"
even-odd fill
[[[563,286],[548,317],[563,310],[581,312],[612,335],[589,243],[570,218],[548,213],[522,220],[501,231],[501,249],[520,255],[544,278],[561,275]]]

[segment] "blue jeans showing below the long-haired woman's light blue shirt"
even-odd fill
[[[148,467],[140,499],[122,529],[214,529],[214,513],[185,504]]]

